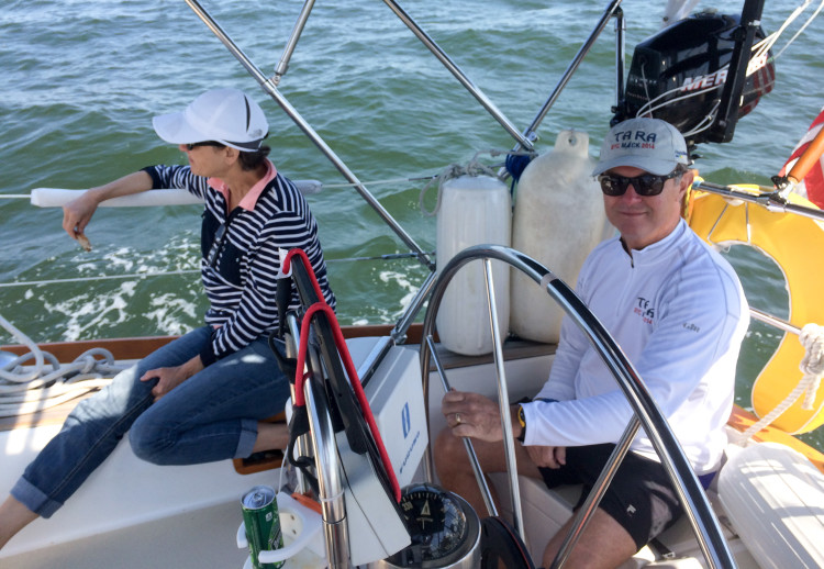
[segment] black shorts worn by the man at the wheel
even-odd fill
[[[567,447],[567,464],[539,468],[548,488],[583,484],[576,510],[583,504],[615,445]],[[599,507],[626,529],[641,549],[681,514],[672,484],[660,462],[627,453]]]

